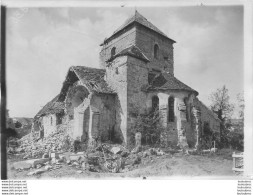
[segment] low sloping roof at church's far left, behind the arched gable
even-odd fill
[[[41,116],[48,115],[48,114],[56,114],[61,113],[64,111],[64,103],[58,102],[58,97],[54,97],[50,102],[48,102],[34,117],[34,119],[38,119]]]

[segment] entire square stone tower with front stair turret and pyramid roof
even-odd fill
[[[112,36],[101,44],[100,66],[106,81],[117,93],[120,128],[127,144],[136,110],[145,112],[147,94],[142,88],[160,72],[174,75],[173,41],[135,11]]]

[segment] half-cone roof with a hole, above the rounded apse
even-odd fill
[[[166,72],[156,75],[146,87],[146,90],[184,90],[198,95],[196,90],[190,88],[176,77]]]

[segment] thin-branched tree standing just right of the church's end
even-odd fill
[[[231,118],[234,110],[234,105],[229,101],[228,89],[224,85],[211,93],[209,99],[211,100],[211,110],[218,115],[221,121],[220,140],[222,143],[226,144],[226,130],[227,126],[229,126],[228,119]]]

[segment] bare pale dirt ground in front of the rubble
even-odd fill
[[[42,174],[27,176],[31,170],[17,171],[11,168],[15,160],[8,163],[9,179],[87,179],[87,178],[150,178],[150,177],[236,177],[232,171],[232,157],[229,150],[217,154],[187,155],[182,152],[143,158],[133,170],[124,173],[97,173],[83,171],[62,164],[61,168]]]

